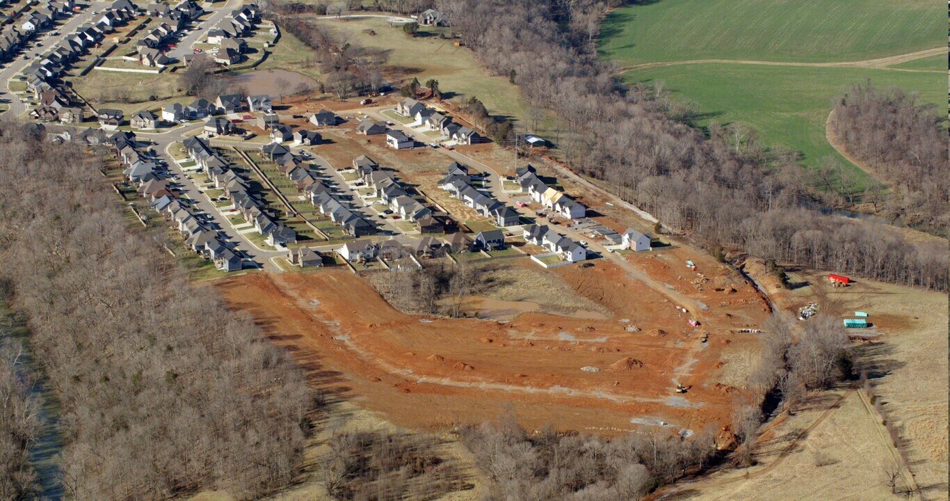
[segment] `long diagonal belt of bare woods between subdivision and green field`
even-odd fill
[[[812,201],[797,164],[772,159],[766,168],[743,135],[706,137],[670,118],[669,101],[655,89],[619,86],[591,43],[592,19],[604,7],[594,0],[440,5],[485,67],[571,127],[561,148],[572,168],[705,248],[947,289],[945,244],[906,241],[880,224],[802,208]]]

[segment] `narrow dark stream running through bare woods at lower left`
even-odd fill
[[[21,362],[31,376],[35,378],[30,393],[36,395],[42,404],[40,409],[40,422],[42,423],[40,436],[36,445],[29,450],[30,460],[36,470],[40,499],[59,501],[64,498],[63,484],[60,481],[59,457],[64,445],[63,434],[59,427],[60,401],[48,388],[43,368],[33,356],[27,327],[13,318],[6,302],[2,299],[0,299],[0,319],[4,322],[4,329],[3,332],[0,332],[0,337],[10,336],[10,338],[23,343],[24,356]]]

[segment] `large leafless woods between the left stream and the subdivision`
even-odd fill
[[[313,397],[289,358],[128,229],[100,157],[19,127],[0,125],[0,279],[62,403],[67,497],[293,480]]]

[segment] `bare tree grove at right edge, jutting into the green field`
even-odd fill
[[[896,191],[881,209],[946,236],[947,129],[936,107],[918,104],[915,95],[899,88],[878,90],[866,82],[841,98],[834,118],[848,151]]]

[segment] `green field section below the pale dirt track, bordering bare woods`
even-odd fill
[[[873,180],[838,156],[825,138],[832,101],[865,78],[879,88],[916,91],[921,102],[940,105],[946,99],[942,74],[887,69],[695,64],[637,69],[624,77],[628,83],[662,81],[675,98],[689,98],[700,106],[706,114],[700,125],[749,125],[766,145],[801,151],[806,167],[835,156],[864,180],[859,190]]]

